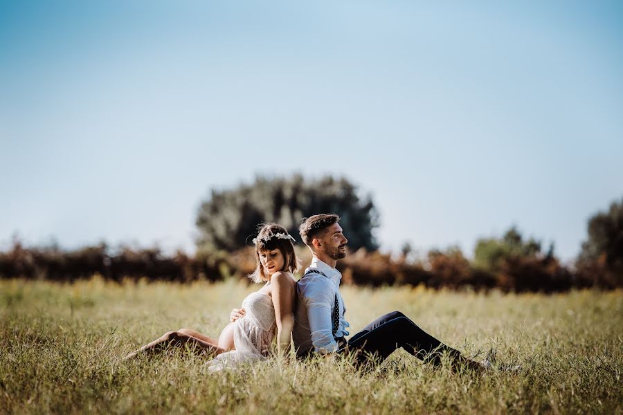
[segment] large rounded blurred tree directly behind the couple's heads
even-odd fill
[[[210,192],[197,214],[200,250],[236,250],[251,243],[257,225],[276,221],[298,241],[298,225],[303,217],[318,213],[341,216],[351,249],[378,248],[374,228],[379,215],[370,195],[359,196],[357,187],[346,178],[325,176],[305,179],[258,176],[252,184]]]

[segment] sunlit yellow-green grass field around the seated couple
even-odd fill
[[[0,414],[623,413],[623,293],[562,295],[343,287],[355,333],[400,310],[518,373],[453,374],[404,351],[377,369],[272,360],[212,374],[179,351],[123,362],[165,331],[217,336],[257,286],[0,281]]]

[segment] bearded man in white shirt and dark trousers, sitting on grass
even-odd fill
[[[299,232],[312,253],[311,265],[296,284],[294,347],[297,357],[311,353],[327,355],[353,351],[361,365],[371,359],[387,358],[402,347],[419,359],[440,364],[444,353],[453,364],[482,369],[482,365],[463,358],[458,351],[433,338],[399,311],[379,317],[345,340],[349,334],[344,318],[346,308],[340,294],[341,273],[335,269],[346,256],[348,240],[336,214],[316,214],[303,220]]]

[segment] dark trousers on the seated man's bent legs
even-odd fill
[[[444,353],[452,360],[460,359],[458,351],[420,329],[400,311],[382,315],[365,326],[348,340],[347,346],[340,352],[354,352],[357,362],[364,364],[374,359],[383,361],[399,347],[435,365],[441,363]]]

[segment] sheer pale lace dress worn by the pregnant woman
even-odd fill
[[[255,292],[242,302],[245,315],[234,323],[235,350],[219,354],[208,362],[210,371],[236,367],[242,362],[265,360],[277,333],[275,307],[270,295]]]

